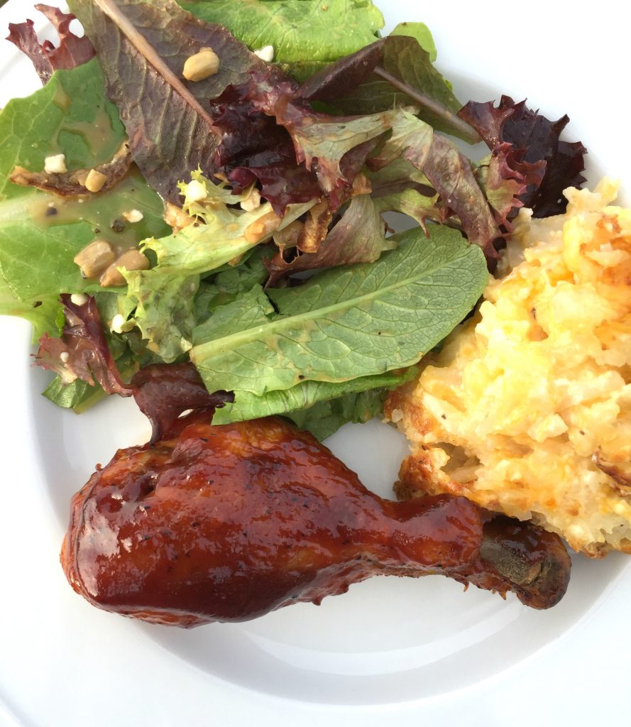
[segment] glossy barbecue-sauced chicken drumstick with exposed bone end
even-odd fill
[[[554,534],[462,497],[381,499],[283,419],[211,419],[118,451],[73,497],[61,561],[95,606],[190,627],[320,603],[377,574],[444,574],[535,608],[565,592]]]

